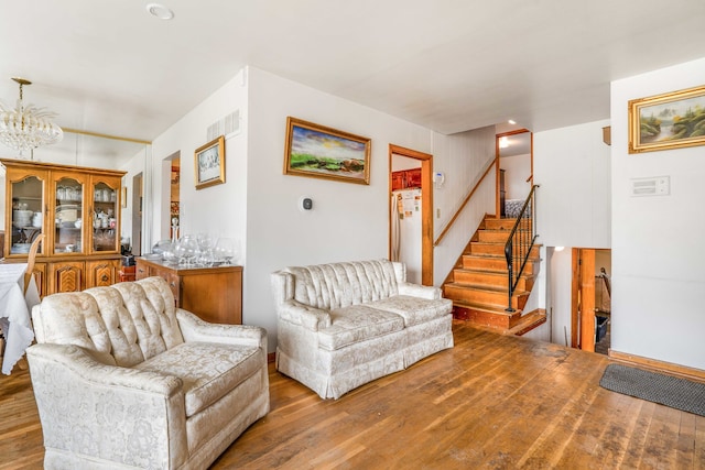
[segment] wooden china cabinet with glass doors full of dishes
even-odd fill
[[[115,284],[120,269],[124,172],[0,159],[7,168],[3,254],[24,262],[44,233],[34,277],[40,295]]]

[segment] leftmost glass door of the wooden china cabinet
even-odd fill
[[[10,181],[10,197],[12,214],[10,215],[11,231],[10,254],[28,254],[32,241],[42,233],[44,227],[44,182],[42,175],[23,175],[22,178]],[[6,219],[7,220],[7,219]],[[40,253],[42,252],[40,247]]]

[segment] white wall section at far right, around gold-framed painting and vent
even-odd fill
[[[629,154],[628,101],[702,86],[705,58],[611,85],[612,350],[705,369],[704,146]],[[631,178],[670,176],[668,196]]]

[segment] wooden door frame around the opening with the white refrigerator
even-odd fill
[[[392,256],[392,159],[393,155],[421,161],[421,283],[433,285],[433,155],[403,146],[389,144],[389,192],[387,214],[389,216],[389,251]]]

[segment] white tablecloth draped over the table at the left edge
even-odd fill
[[[34,339],[30,311],[40,296],[34,277],[25,295],[25,263],[0,263],[0,328],[6,340],[2,373],[8,375]]]

